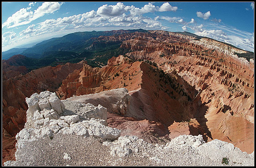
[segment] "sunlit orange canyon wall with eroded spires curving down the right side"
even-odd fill
[[[207,38],[183,43],[131,39],[121,45],[125,49],[132,46],[135,51],[127,53],[128,57],[154,60],[165,72],[175,70],[189,85],[201,90],[198,96],[204,110],[199,110],[196,119],[212,138],[234,145],[240,143],[238,128],[230,128],[232,132],[227,138],[221,131],[223,128],[219,130],[215,124],[227,120],[227,116],[222,115],[225,113],[238,117],[238,125],[248,121],[245,133],[248,139],[253,137],[254,62],[233,54],[245,51]],[[229,129],[227,124],[222,127]],[[243,140],[248,145],[249,142]],[[251,152],[250,147],[243,150]]]

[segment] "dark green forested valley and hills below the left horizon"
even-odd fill
[[[96,47],[97,48],[97,47]],[[70,51],[49,51],[43,52],[40,58],[27,57],[15,62],[10,63],[14,66],[25,66],[29,71],[46,66],[64,65],[67,62],[77,63],[82,60],[86,60],[88,65],[92,67],[100,67],[97,62],[107,65],[108,59],[112,57],[118,57],[120,54],[129,52],[127,49],[120,48],[120,44],[109,44],[104,47],[100,46],[100,49],[89,49],[82,53],[70,52]]]

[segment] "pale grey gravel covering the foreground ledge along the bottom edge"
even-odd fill
[[[45,137],[41,140],[26,142],[25,147],[16,152],[16,161],[8,161],[5,165],[226,165],[222,164],[222,159],[211,159],[208,155],[200,154],[196,148],[190,145],[166,146],[150,144],[139,139],[127,144],[126,147],[131,149],[131,154],[119,157],[111,155],[110,145],[103,145],[103,142],[103,139],[93,136],[81,137],[59,133],[55,134],[53,138]],[[107,143],[113,144],[113,142]],[[227,155],[228,165],[254,165],[254,155],[237,150],[238,148],[235,148],[234,152]],[[237,155],[235,157],[239,157],[240,160],[232,160],[234,155]]]

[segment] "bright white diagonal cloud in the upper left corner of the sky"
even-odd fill
[[[29,3],[29,6],[32,4]],[[29,11],[31,7],[29,8],[22,8],[18,10],[16,13],[14,13],[12,16],[10,16],[7,21],[5,21],[2,24],[2,28],[4,26],[7,26],[7,28],[13,28],[16,26],[21,26],[30,23],[31,21],[34,21],[37,18],[40,18],[44,16],[44,14],[47,13],[53,13],[56,10],[60,8],[60,5],[62,3],[57,3],[57,2],[45,2],[37,10]]]

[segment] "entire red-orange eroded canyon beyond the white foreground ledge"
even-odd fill
[[[89,48],[119,42],[129,50],[107,65],[86,61],[27,72],[3,62],[3,162],[14,159],[26,122],[25,98],[44,90],[61,100],[101,104],[109,127],[150,143],[182,134],[254,151],[254,60],[214,39],[168,31],[94,37]]]

